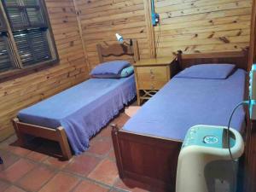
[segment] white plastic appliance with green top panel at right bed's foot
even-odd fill
[[[211,125],[191,127],[178,156],[176,192],[236,191],[236,174],[230,159],[227,129]],[[230,129],[233,158],[243,153],[240,133]]]

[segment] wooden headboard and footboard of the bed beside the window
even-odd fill
[[[119,59],[123,55],[128,55],[130,57],[132,56],[133,60],[137,61],[139,59],[137,40],[132,39],[131,42],[131,45],[108,45],[105,43],[105,46],[102,46],[101,44],[97,44],[96,48],[98,51],[99,61],[109,61],[109,58],[113,59],[115,57],[116,59]],[[60,144],[62,158],[64,160],[69,160],[72,157],[72,152],[67,141],[67,135],[63,127],[60,126],[52,129],[39,125],[26,124],[24,122],[20,122],[18,118],[13,119],[13,125],[15,127],[15,132],[18,137],[18,142],[21,146],[26,147],[26,134],[35,137],[42,137]]]

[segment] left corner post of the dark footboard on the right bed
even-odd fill
[[[116,157],[116,163],[118,166],[119,170],[119,177],[124,178],[124,173],[123,173],[123,166],[122,166],[122,157],[120,153],[120,148],[119,148],[119,128],[117,125],[111,125],[112,126],[112,140],[113,140],[113,150],[114,154]]]

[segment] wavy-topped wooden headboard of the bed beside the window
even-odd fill
[[[136,39],[131,40],[132,45],[128,44],[110,44],[107,46],[102,46],[102,44],[97,44],[97,51],[99,56],[99,61],[110,61],[114,59],[122,59],[121,57],[124,55],[129,55],[131,58],[133,57],[134,61],[139,60],[139,50]]]

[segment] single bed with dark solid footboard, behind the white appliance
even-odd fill
[[[243,52],[178,55],[183,70],[193,64],[234,63],[228,79],[172,78],[127,121],[113,125],[119,176],[175,191],[177,157],[189,127],[227,125],[232,108],[245,97],[247,54]],[[235,114],[232,127],[242,131],[245,113]]]

